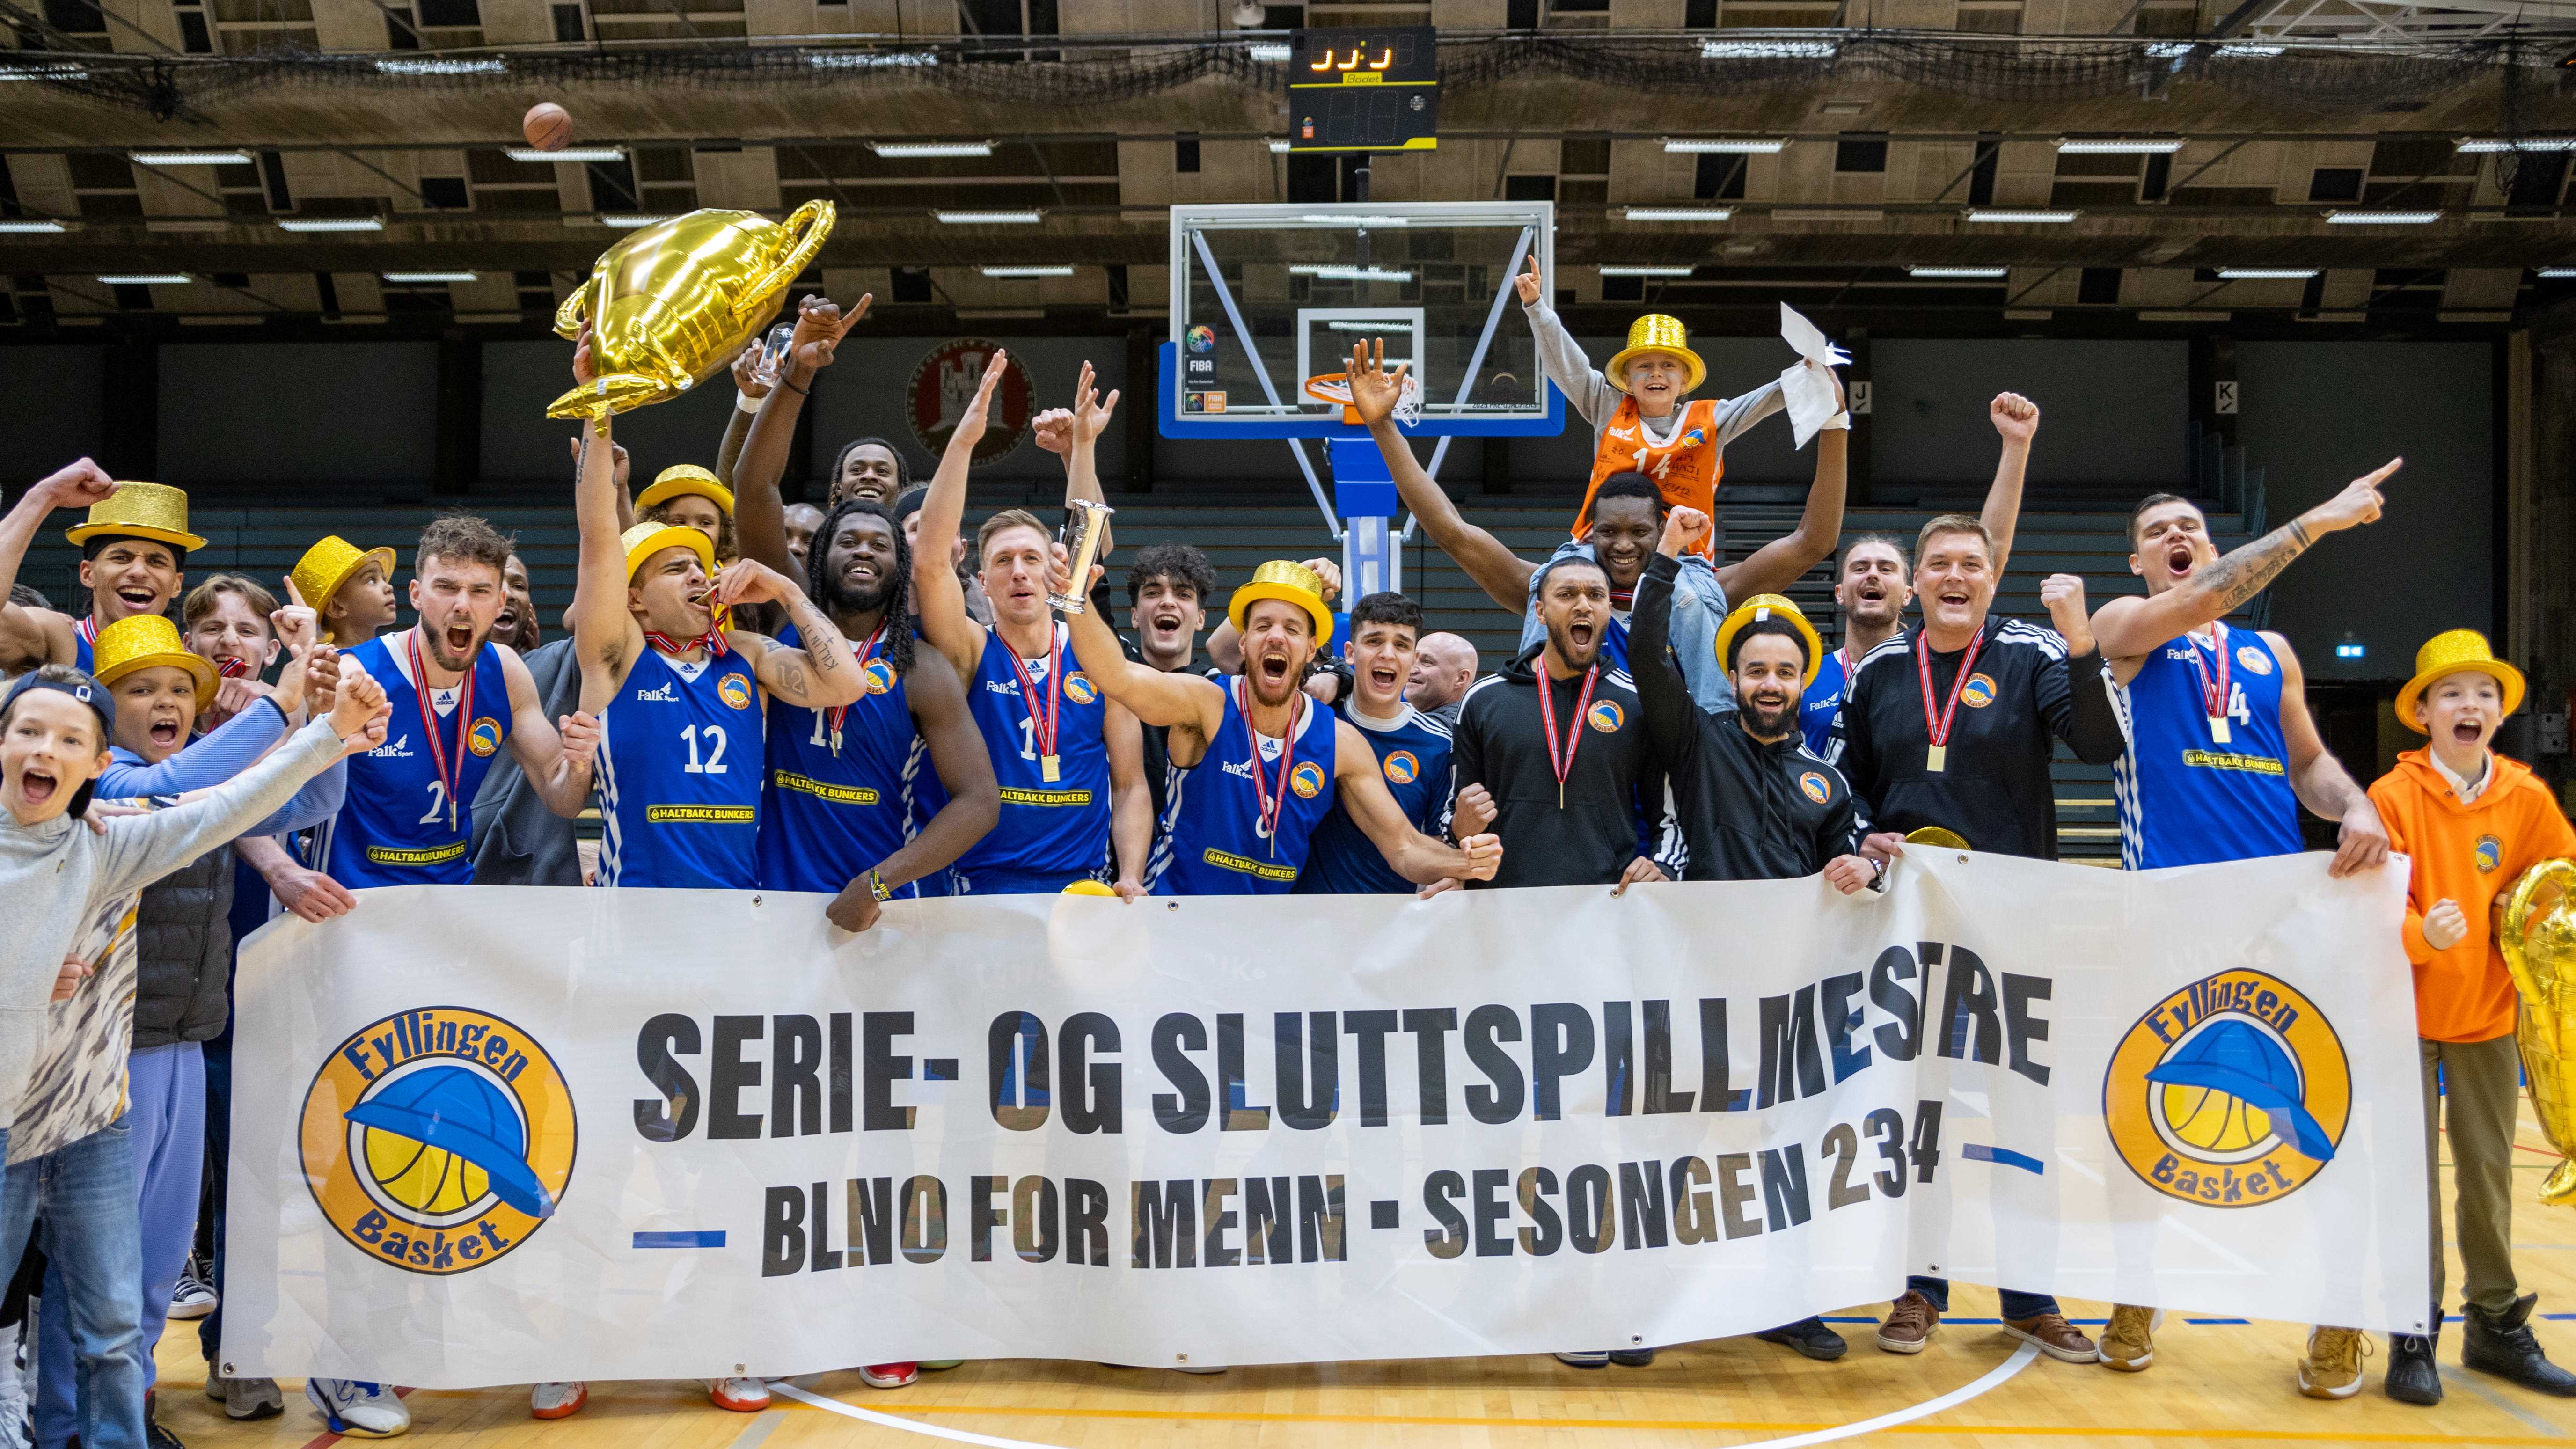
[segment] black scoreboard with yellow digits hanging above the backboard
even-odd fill
[[[1293,31],[1291,152],[1440,147],[1440,46],[1432,26]]]

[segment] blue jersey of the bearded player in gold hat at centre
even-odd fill
[[[1280,895],[1306,866],[1316,825],[1334,804],[1332,755],[1340,717],[1298,696],[1293,740],[1260,737],[1242,709],[1244,681],[1226,683],[1226,719],[1208,740],[1195,766],[1170,766],[1162,807],[1162,838],[1146,866],[1154,895]],[[1285,792],[1278,820],[1262,830],[1260,789],[1252,771],[1265,771],[1270,789],[1280,784],[1280,755],[1288,755]],[[1368,846],[1368,841],[1360,841]],[[1368,846],[1376,853],[1376,846]]]

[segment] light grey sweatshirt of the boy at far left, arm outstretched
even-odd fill
[[[0,1129],[18,1119],[44,1049],[54,975],[98,905],[258,825],[337,758],[340,735],[330,719],[314,719],[214,792],[152,815],[113,817],[106,835],[70,815],[18,825],[0,812]]]

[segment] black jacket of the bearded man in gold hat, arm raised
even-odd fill
[[[1628,614],[1628,670],[1682,822],[1682,879],[1795,879],[1860,851],[1865,820],[1842,773],[1806,750],[1795,714],[1765,745],[1741,714],[1708,714],[1672,660],[1672,583],[1680,565],[1646,559]]]

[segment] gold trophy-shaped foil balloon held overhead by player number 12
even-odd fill
[[[690,211],[600,253],[554,330],[587,320],[598,379],[546,405],[546,418],[608,418],[706,382],[778,315],[796,273],[832,235],[832,204],[806,201],[786,224],[760,211]]]

